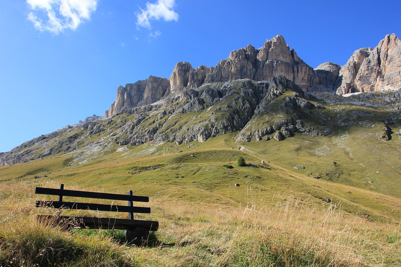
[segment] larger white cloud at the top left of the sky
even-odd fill
[[[41,13],[28,14],[37,30],[59,34],[65,29],[75,30],[83,20],[89,20],[98,0],[26,0],[30,8]],[[43,19],[44,17],[44,19]]]

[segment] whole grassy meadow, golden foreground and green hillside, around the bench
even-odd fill
[[[379,131],[246,144],[233,133],[2,166],[0,266],[401,266],[400,140],[378,140]],[[253,165],[237,166],[239,156]],[[61,183],[150,196],[143,205],[152,213],[135,217],[160,228],[128,245],[122,231],[65,232],[37,222],[35,214],[56,210],[34,208],[34,200],[55,196],[34,195],[34,187]],[[127,217],[63,211],[82,213]]]

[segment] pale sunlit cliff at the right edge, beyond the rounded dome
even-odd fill
[[[375,49],[358,49],[340,71],[336,93],[395,90],[401,87],[401,41],[386,35]]]

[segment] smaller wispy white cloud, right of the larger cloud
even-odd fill
[[[151,20],[160,20],[162,18],[164,21],[178,21],[178,14],[173,10],[174,5],[175,0],[158,0],[156,4],[147,2],[145,10],[140,8],[140,12],[135,13],[138,18],[136,25],[150,29],[152,28],[150,26]]]

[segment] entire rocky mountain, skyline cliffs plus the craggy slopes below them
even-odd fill
[[[180,62],[170,79],[150,76],[120,86],[104,119],[89,117],[25,142],[1,154],[0,165],[80,149],[101,154],[147,142],[205,142],[231,132],[241,144],[327,136],[359,125],[379,127],[377,139],[390,140],[400,134],[393,131],[401,125],[400,51],[397,36],[387,35],[375,49],[355,51],[342,67],[312,69],[278,35],[260,49],[232,51],[216,67]],[[340,96],[383,89],[393,91]]]

